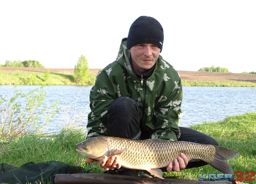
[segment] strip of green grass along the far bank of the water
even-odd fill
[[[0,85],[78,85],[72,74],[50,73],[44,80],[45,73],[4,73],[0,72]],[[88,74],[88,83],[94,85],[97,74]],[[251,82],[212,82],[212,81],[182,81],[183,86],[220,86],[220,87],[256,87]]]

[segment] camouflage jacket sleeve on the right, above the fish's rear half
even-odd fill
[[[180,128],[178,126],[179,118],[182,116],[182,85],[181,80],[173,81],[175,86],[169,90],[169,95],[161,95],[158,99],[152,121],[154,130],[151,138],[165,140],[174,140],[180,137]],[[171,91],[172,90],[172,91]]]

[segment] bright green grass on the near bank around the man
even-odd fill
[[[228,161],[234,171],[256,172],[256,113],[229,116],[216,123],[204,122],[193,125],[196,129],[214,137],[221,146],[234,149],[240,155]],[[19,167],[27,162],[60,161],[73,166],[94,169],[102,173],[96,163],[86,164],[85,156],[77,153],[75,144],[84,141],[86,133],[82,129],[64,128],[52,136],[27,134],[12,142],[0,142],[0,163]],[[164,173],[164,176],[178,176],[183,179],[198,180],[200,173],[220,173],[207,165],[182,170],[179,173]],[[248,175],[248,174],[247,174]],[[236,177],[236,175],[234,175]],[[244,175],[245,177],[245,175]],[[237,177],[239,178],[239,177]],[[255,176],[252,177],[255,179]],[[254,181],[244,181],[254,183]]]

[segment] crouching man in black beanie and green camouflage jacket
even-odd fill
[[[141,16],[132,23],[116,61],[99,72],[90,92],[92,111],[88,114],[87,138],[159,138],[218,145],[212,137],[178,126],[182,85],[179,73],[159,55],[163,42],[163,28],[155,18]],[[87,163],[93,161],[86,159]],[[98,163],[106,170],[122,166],[119,156],[109,160],[104,157]],[[181,154],[162,170],[179,172],[205,164],[203,161],[188,164],[186,155]],[[126,172],[120,171],[125,169],[116,172]]]

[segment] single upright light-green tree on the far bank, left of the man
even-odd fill
[[[76,83],[85,85],[88,81],[88,61],[85,56],[81,55],[79,60],[77,61],[77,65],[75,65],[74,75]]]

